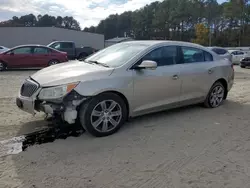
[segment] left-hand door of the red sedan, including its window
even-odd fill
[[[8,67],[27,68],[32,64],[32,47],[18,47],[3,56]]]

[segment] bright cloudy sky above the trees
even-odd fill
[[[135,10],[156,0],[0,0],[0,21],[33,13],[73,16],[81,27],[97,25],[110,14]],[[222,2],[224,0],[218,0]]]

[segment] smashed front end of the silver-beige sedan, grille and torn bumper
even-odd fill
[[[68,84],[66,86],[43,88],[35,80],[27,79],[21,87],[19,96],[16,99],[16,105],[21,110],[32,115],[35,115],[36,112],[44,112],[47,115],[60,117],[69,124],[74,124],[77,119],[78,108],[88,97],[82,96],[74,90],[77,84]],[[41,97],[42,91],[52,89],[53,92],[50,91],[50,95],[58,92],[60,87],[67,89],[59,91],[60,97]],[[53,88],[55,89],[53,90]],[[65,94],[60,93],[61,91],[64,91]]]

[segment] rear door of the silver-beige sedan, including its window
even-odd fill
[[[206,51],[193,47],[180,47],[183,54],[180,79],[182,103],[194,103],[206,97],[213,84],[213,56]]]

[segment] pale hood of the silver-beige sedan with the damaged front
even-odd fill
[[[109,76],[114,68],[88,64],[82,61],[70,61],[52,65],[37,71],[31,76],[42,87],[62,85],[78,81],[101,79]]]

